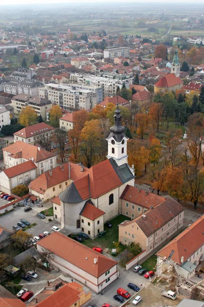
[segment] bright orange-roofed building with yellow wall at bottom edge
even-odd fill
[[[31,307],[81,307],[91,299],[91,292],[86,293],[78,282],[67,282],[61,278],[53,280],[50,286],[37,292],[35,298],[27,304]]]

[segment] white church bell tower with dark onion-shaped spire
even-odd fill
[[[121,114],[118,107],[117,98],[117,108],[114,115],[114,126],[111,127],[111,132],[107,137],[108,141],[108,156],[107,158],[113,158],[116,163],[120,166],[127,163],[127,138],[124,134],[125,128],[121,125]]]

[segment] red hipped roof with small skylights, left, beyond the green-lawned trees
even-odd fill
[[[28,126],[22,128],[21,130],[14,133],[15,136],[20,136],[21,138],[30,138],[47,131],[52,131],[55,128],[47,125],[46,123],[39,123],[33,126]]]

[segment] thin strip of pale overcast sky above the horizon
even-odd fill
[[[164,0],[30,0],[28,3],[28,0],[0,0],[0,5],[16,5],[16,4],[42,4],[42,3],[87,3],[87,2],[94,2],[94,3],[99,3],[99,2],[142,2],[143,4],[145,2],[163,2]],[[192,3],[192,0],[171,0],[171,2],[176,2],[176,3]],[[203,0],[196,0],[195,3],[202,3]]]

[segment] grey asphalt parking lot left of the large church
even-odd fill
[[[54,221],[48,222],[48,217],[46,217],[44,220],[41,220],[41,218],[37,217],[36,214],[38,213],[38,211],[35,210],[35,206],[31,211],[28,212],[24,212],[23,208],[24,207],[16,207],[14,211],[9,212],[0,217],[0,225],[7,228],[8,230],[13,231],[12,227],[20,221],[20,218],[25,218],[25,220],[27,220],[31,224],[37,223],[36,226],[27,230],[27,232],[32,234],[33,236],[38,236],[44,231],[49,231],[50,233],[53,232],[51,228],[54,225],[60,228],[60,225],[56,224]]]

